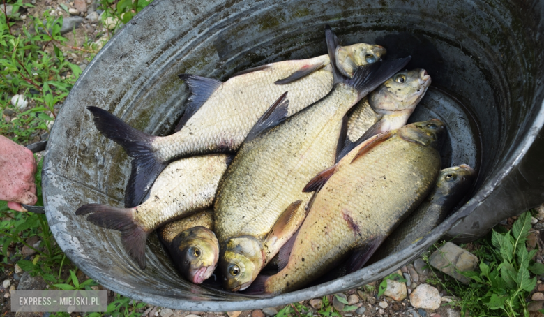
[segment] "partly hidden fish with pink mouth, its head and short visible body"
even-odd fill
[[[200,284],[216,269],[219,242],[211,231],[213,211],[197,212],[158,228],[158,237],[167,247],[183,277]]]

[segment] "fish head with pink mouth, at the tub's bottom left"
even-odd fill
[[[190,228],[177,235],[171,244],[174,263],[186,279],[200,284],[213,274],[219,259],[219,242],[211,230],[201,226]]]

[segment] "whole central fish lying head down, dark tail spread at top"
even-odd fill
[[[330,28],[326,42],[333,59],[338,38]],[[225,288],[250,286],[292,237],[311,197],[302,189],[317,172],[335,163],[337,145],[344,144],[346,112],[409,59],[361,66],[353,78],[346,78],[333,63],[333,90],[324,98],[275,125],[287,117],[284,94],[259,119],[225,172],[214,204],[218,268]]]

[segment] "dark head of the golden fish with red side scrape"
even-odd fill
[[[439,119],[415,122],[400,128],[398,135],[403,140],[431,146],[439,150],[444,143],[444,138],[446,138],[446,124]]]

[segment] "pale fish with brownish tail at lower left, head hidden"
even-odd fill
[[[142,269],[149,233],[183,216],[211,207],[219,179],[232,156],[213,154],[183,158],[159,175],[146,200],[133,208],[87,204],[76,214],[87,216],[97,226],[121,230],[121,242]]]

